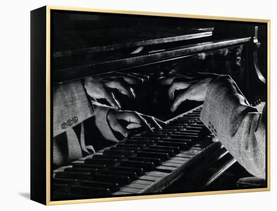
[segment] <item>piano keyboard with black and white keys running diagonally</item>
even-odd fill
[[[210,141],[200,112],[201,105],[167,121],[161,130],[133,136],[54,170],[54,197],[158,192],[201,159],[222,149],[222,155],[228,153]]]

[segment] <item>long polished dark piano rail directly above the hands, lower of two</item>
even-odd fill
[[[180,46],[168,49],[142,51],[137,54],[120,54],[113,52],[111,54],[89,54],[86,56],[69,56],[55,58],[54,64],[54,82],[82,78],[90,75],[103,74],[105,72],[130,69],[138,66],[145,66],[153,63],[164,62],[168,60],[181,59],[197,53],[223,49],[240,44],[249,43],[250,37],[235,38],[228,40],[210,41]],[[174,45],[174,44],[173,44]],[[152,53],[153,52],[153,53]]]

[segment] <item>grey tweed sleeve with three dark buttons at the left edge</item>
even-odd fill
[[[80,80],[53,87],[53,136],[57,136],[94,115]]]

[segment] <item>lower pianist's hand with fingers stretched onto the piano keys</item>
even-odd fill
[[[154,117],[133,111],[110,110],[107,116],[110,127],[127,138],[133,129],[140,131],[153,131],[151,127],[162,129],[165,123]]]

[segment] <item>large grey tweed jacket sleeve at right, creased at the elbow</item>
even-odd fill
[[[266,107],[251,107],[229,75],[207,89],[200,120],[251,174],[265,178]]]

